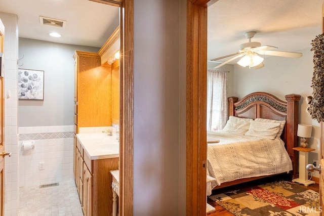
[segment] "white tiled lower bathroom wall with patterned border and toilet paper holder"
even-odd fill
[[[73,125],[19,127],[19,187],[73,180],[73,131]],[[24,141],[34,148],[25,150]]]

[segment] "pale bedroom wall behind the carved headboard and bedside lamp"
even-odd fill
[[[299,94],[299,123],[311,124],[312,137],[309,139],[309,147],[316,149],[309,153],[309,163],[319,160],[319,123],[312,119],[306,112],[306,96],[311,95],[310,87],[313,75],[313,52],[311,47],[296,51],[303,53],[298,59],[284,57],[267,57],[264,59],[265,67],[255,70],[234,65],[234,95],[241,98],[252,92],[268,92],[285,100],[285,95]],[[319,177],[318,172],[313,172]]]

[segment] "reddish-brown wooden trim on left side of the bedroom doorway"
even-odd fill
[[[207,0],[187,1],[187,215],[206,215],[207,4],[209,2]]]

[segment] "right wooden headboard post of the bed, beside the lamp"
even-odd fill
[[[288,102],[287,108],[290,110],[287,113],[287,152],[293,162],[293,179],[298,178],[298,152],[294,151],[293,148],[298,146],[298,137],[297,137],[297,126],[298,126],[298,108],[300,95],[290,94],[285,96],[286,101]]]

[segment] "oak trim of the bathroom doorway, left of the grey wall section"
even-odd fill
[[[119,215],[132,216],[134,170],[134,0],[90,1],[120,7]]]

